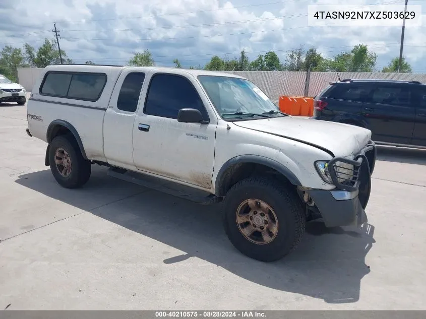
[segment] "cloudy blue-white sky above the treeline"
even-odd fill
[[[350,3],[350,5],[348,5]],[[414,72],[426,73],[426,0],[423,26],[405,30],[404,56]],[[382,69],[399,55],[400,27],[308,27],[308,5],[404,5],[391,0],[0,0],[0,49],[38,47],[52,38],[53,22],[60,46],[77,63],[125,64],[132,53],[149,49],[157,65],[204,65],[214,54],[229,57],[241,49],[251,59],[275,50],[284,59],[304,45],[333,56],[364,43]]]

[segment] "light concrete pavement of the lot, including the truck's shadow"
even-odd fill
[[[381,147],[369,225],[308,224],[276,263],[242,256],[205,207],[94,166],[65,189],[0,104],[0,308],[426,309],[426,151]]]

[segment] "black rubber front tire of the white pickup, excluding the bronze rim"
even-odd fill
[[[276,216],[278,227],[276,228],[275,237],[269,242],[253,242],[253,237],[248,239],[247,236],[242,234],[243,230],[240,230],[241,227],[237,222],[238,211],[241,205],[244,207],[245,201],[249,199],[264,202]],[[278,180],[263,177],[250,177],[241,180],[229,189],[223,205],[223,226],[226,235],[236,249],[252,259],[262,262],[273,262],[282,259],[296,248],[303,233],[305,233],[306,216],[300,199],[294,190]],[[253,211],[250,207],[249,210]],[[253,216],[250,216],[250,218]],[[254,223],[255,220],[253,219],[249,223],[251,222]],[[244,229],[246,230],[246,228]],[[253,236],[256,237],[255,235]],[[260,238],[259,236],[257,237]]]

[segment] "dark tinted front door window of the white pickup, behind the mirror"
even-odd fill
[[[207,120],[200,95],[189,80],[171,74],[157,74],[151,80],[145,103],[145,114],[177,119],[181,108],[195,108]]]

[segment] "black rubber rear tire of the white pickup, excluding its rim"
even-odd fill
[[[67,163],[71,163],[69,166],[70,169],[66,172],[66,176],[59,172],[59,170],[64,171],[65,166],[56,165],[56,152],[61,156],[67,154],[63,159],[66,157]],[[62,162],[64,163],[64,160]],[[70,135],[57,136],[50,143],[49,164],[53,177],[59,185],[65,188],[78,188],[83,186],[89,180],[92,172],[91,163],[83,158],[76,140]]]

